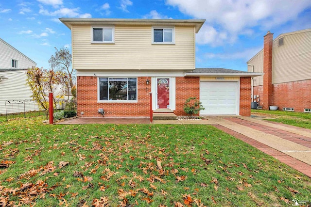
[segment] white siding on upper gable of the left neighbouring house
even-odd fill
[[[17,60],[17,68],[31,68],[35,63],[0,39],[0,68],[12,68],[12,59]]]

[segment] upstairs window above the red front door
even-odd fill
[[[174,44],[174,28],[153,28],[154,44]]]

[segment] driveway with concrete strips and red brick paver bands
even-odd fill
[[[243,116],[207,118],[215,127],[311,177],[311,130]]]

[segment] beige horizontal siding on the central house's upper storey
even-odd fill
[[[72,27],[74,69],[193,70],[193,27],[175,27],[175,44],[152,44],[152,26],[115,26],[114,44],[91,44],[91,26]]]

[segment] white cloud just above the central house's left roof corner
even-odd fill
[[[90,14],[79,14],[79,8],[69,9],[69,8],[61,8],[54,12],[49,12],[46,9],[43,9],[43,7],[40,7],[39,14],[41,15],[47,15],[47,16],[62,16],[62,17],[79,17],[79,18],[90,18],[92,17]]]

